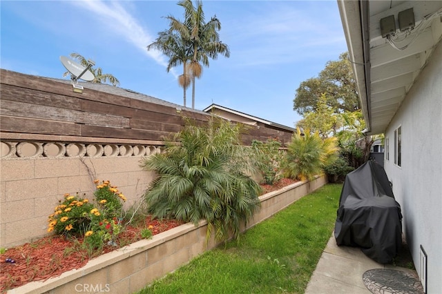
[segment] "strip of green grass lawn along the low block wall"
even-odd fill
[[[139,293],[303,293],[332,235],[341,188],[323,186]]]

